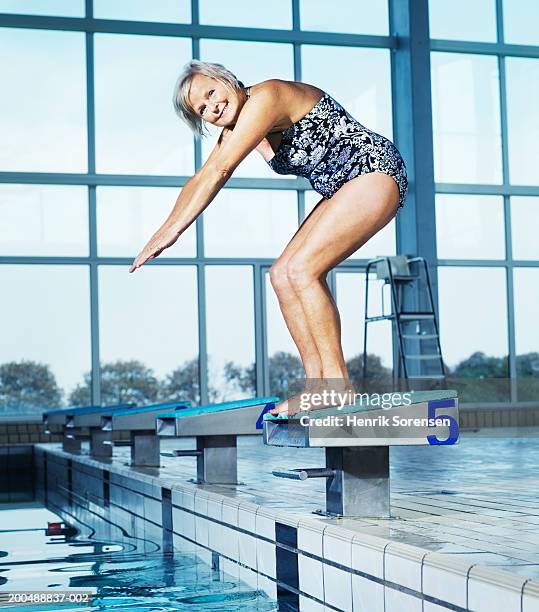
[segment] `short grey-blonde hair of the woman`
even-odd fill
[[[174,86],[172,104],[176,114],[191,128],[197,136],[206,136],[208,130],[204,126],[204,120],[196,113],[189,103],[189,88],[195,74],[211,77],[222,83],[228,89],[239,92],[244,87],[235,74],[227,70],[222,64],[191,60],[183,67],[183,70]]]

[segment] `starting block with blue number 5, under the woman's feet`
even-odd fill
[[[397,394],[392,394],[393,396]],[[387,408],[349,405],[264,414],[264,444],[325,448],[320,468],[279,469],[274,476],[326,479],[330,516],[390,517],[389,447],[458,441],[456,391],[403,392],[406,403]]]

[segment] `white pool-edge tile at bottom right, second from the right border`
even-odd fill
[[[525,581],[522,576],[475,565],[468,577],[468,607],[476,612],[519,612]]]

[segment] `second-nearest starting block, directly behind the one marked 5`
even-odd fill
[[[194,437],[196,448],[167,453],[197,458],[197,483],[238,484],[237,436],[262,434],[263,416],[278,397],[255,397],[185,408],[157,417],[163,437]]]

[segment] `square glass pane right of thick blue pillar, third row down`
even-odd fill
[[[504,259],[503,198],[437,194],[436,243],[440,259]]]

